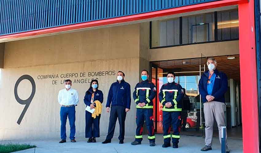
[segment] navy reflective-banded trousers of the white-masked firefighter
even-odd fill
[[[172,125],[173,133],[170,134],[170,126]],[[163,138],[164,143],[170,143],[172,137],[172,143],[178,144],[180,139],[181,129],[181,112],[167,112],[163,111]]]

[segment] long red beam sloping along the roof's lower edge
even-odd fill
[[[237,5],[240,2],[248,2],[248,1],[247,0],[220,0],[215,2],[207,2],[207,3],[190,5],[190,6],[182,6],[173,9],[165,9],[165,10],[154,11],[149,13],[125,16],[125,17],[117,17],[117,18],[111,18],[111,19],[105,19],[99,21],[90,21],[85,23],[71,24],[71,25],[65,25],[60,27],[47,28],[47,29],[41,29],[41,30],[35,30],[29,32],[21,32],[21,33],[11,34],[11,35],[2,35],[0,36],[0,41],[7,41],[11,39],[25,38],[30,36],[44,35],[44,34],[50,34],[56,32],[64,32],[69,30],[97,27],[97,26],[103,26],[109,24],[131,22],[131,21],[149,19],[153,17],[162,17],[162,16],[173,15],[178,13],[198,11],[202,9],[212,9],[212,8],[217,8],[222,6],[231,6],[231,5]]]

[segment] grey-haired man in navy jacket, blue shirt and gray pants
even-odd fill
[[[225,125],[225,93],[228,88],[228,78],[226,74],[219,72],[216,69],[217,62],[214,58],[207,60],[208,71],[204,72],[198,84],[199,93],[203,99],[204,115],[205,115],[205,146],[201,151],[212,150],[213,138],[213,123],[216,118],[219,140],[221,143],[222,126]],[[226,144],[226,152],[229,153],[228,145]]]

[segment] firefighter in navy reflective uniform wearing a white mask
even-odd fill
[[[163,106],[163,138],[162,147],[170,147],[170,139],[172,138],[173,148],[178,148],[181,129],[181,108],[182,108],[182,87],[174,82],[175,73],[167,74],[168,83],[162,85],[159,93],[159,100]],[[172,125],[173,134],[170,134],[170,126]]]

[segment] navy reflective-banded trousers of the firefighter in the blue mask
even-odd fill
[[[153,109],[146,108],[137,108],[136,113],[136,136],[135,140],[138,142],[142,141],[142,131],[144,120],[146,121],[146,126],[148,129],[148,139],[150,142],[155,142],[155,134],[154,134],[154,123],[153,123]]]

